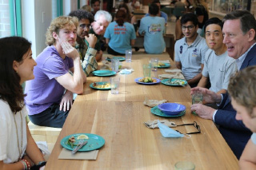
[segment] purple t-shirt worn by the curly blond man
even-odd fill
[[[65,88],[55,80],[74,67],[72,58],[59,56],[54,45],[47,46],[35,59],[34,80],[26,81],[26,109],[29,115],[42,113],[54,103],[60,103]]]

